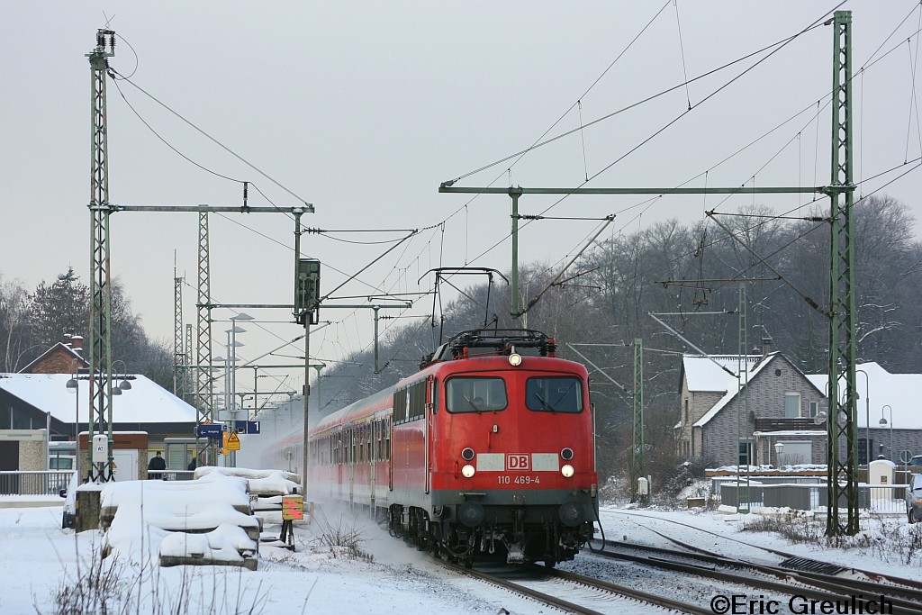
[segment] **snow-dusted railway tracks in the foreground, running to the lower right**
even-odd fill
[[[580,560],[589,557],[629,562],[632,578],[616,583],[599,578],[605,574],[587,576],[538,565],[484,562],[476,570],[468,570],[439,563],[457,574],[473,576],[556,609],[581,614],[628,613],[650,607],[708,615],[743,612],[731,608],[729,601],[734,598],[749,603],[745,612],[839,612],[823,611],[822,605],[839,605],[845,609],[841,612],[875,612],[882,605],[882,612],[922,614],[922,589],[911,581],[903,585],[881,583],[855,576],[741,562],[713,553],[677,552],[626,543],[609,543],[605,550],[581,556]],[[646,568],[666,575],[657,583],[656,574],[644,573]],[[668,585],[668,589],[662,593],[638,589],[638,572],[647,587]],[[677,599],[679,594],[685,597]],[[727,609],[722,611],[721,606]]]

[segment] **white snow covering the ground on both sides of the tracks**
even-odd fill
[[[152,602],[169,606],[178,600],[190,601],[189,613],[247,612],[252,606],[254,613],[333,613],[343,609],[364,613],[479,615],[493,615],[502,612],[501,609],[524,614],[549,612],[506,591],[434,566],[428,555],[408,549],[365,518],[331,506],[318,507],[318,511],[312,526],[297,528],[294,552],[266,543],[260,545],[261,561],[256,572],[211,566],[160,568],[151,566],[139,548],[120,552],[125,580],[122,591],[139,597],[141,602],[141,607],[131,612],[154,612]],[[604,505],[601,513],[609,539],[627,537],[635,542],[671,547],[656,531],[728,555],[768,559],[768,555],[752,548],[761,545],[922,580],[918,562],[906,566],[895,555],[881,561],[881,550],[873,547],[873,539],[869,539],[869,547],[865,549],[821,550],[790,544],[772,534],[739,532],[743,523],[756,516],[700,509],[628,510],[612,505]],[[270,518],[266,533],[278,532],[279,521],[278,514]],[[910,527],[904,516],[894,515],[862,519],[862,529],[866,527],[872,532],[893,534],[916,531],[918,526]],[[318,538],[329,533],[330,528],[359,532],[360,549],[371,555],[373,561],[361,557],[349,559],[348,550],[330,550],[323,545]],[[61,529],[58,507],[0,508],[0,537],[0,579],[4,585],[0,592],[0,612],[5,615],[53,612],[55,593],[68,580],[76,578],[78,568],[87,569],[89,554],[99,549],[102,540],[96,531],[77,535],[73,530]],[[149,542],[156,540],[148,541],[148,548]],[[574,563],[581,557],[577,556]],[[138,578],[141,580],[136,582]]]

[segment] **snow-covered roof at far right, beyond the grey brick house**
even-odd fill
[[[858,363],[857,383],[857,419],[858,428],[868,427],[870,415],[871,429],[922,430],[922,412],[919,412],[919,392],[922,392],[922,373],[890,373],[877,363]],[[865,376],[868,376],[867,380]],[[823,393],[829,378],[825,373],[808,374],[810,382]],[[840,388],[845,386],[845,379],[839,380]],[[883,409],[889,406],[891,409]],[[881,416],[887,420],[887,427],[881,428]]]

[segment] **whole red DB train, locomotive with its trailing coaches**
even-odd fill
[[[369,506],[392,534],[470,565],[572,560],[597,474],[585,367],[531,330],[467,331],[419,373],[321,420],[310,491]]]

